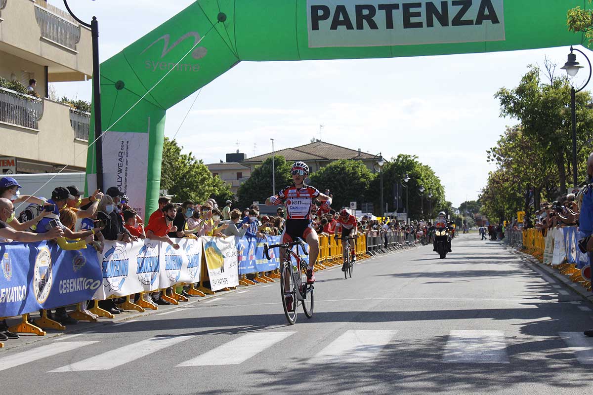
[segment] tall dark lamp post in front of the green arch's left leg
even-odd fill
[[[99,70],[99,23],[97,17],[93,17],[90,24],[79,20],[74,12],[68,7],[68,1],[64,0],[64,5],[69,14],[72,15],[79,24],[91,29],[93,37],[93,100],[95,116],[95,155],[97,156],[97,188],[103,190],[103,144],[101,143],[101,75]]]

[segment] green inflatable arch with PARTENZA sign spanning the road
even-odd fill
[[[117,185],[142,217],[152,212],[157,207],[167,108],[241,60],[359,59],[568,46],[582,42],[581,34],[566,28],[566,13],[577,6],[586,8],[588,2],[198,0],[101,64],[105,188]],[[91,117],[90,142],[93,125]],[[88,189],[96,185],[94,152],[90,145]]]

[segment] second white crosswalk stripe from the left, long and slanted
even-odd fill
[[[132,343],[127,346],[104,352],[103,354],[84,359],[71,365],[63,366],[50,371],[50,373],[110,370],[195,337],[196,336],[167,336],[143,340],[138,343]]]

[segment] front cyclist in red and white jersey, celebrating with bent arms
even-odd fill
[[[313,267],[319,255],[319,239],[317,232],[311,223],[311,210],[314,208],[314,201],[321,201],[321,207],[329,210],[331,198],[322,194],[317,188],[305,184],[305,178],[309,175],[309,166],[304,162],[295,162],[291,169],[292,184],[284,188],[278,195],[270,196],[266,205],[286,206],[286,222],[284,231],[280,238],[281,243],[291,243],[295,237],[300,237],[309,245],[309,266],[307,268],[307,283],[315,282]]]

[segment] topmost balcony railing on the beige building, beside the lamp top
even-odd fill
[[[35,18],[43,38],[73,51],[76,50],[76,44],[80,41],[80,25],[65,11],[50,4],[47,8],[36,4]]]

